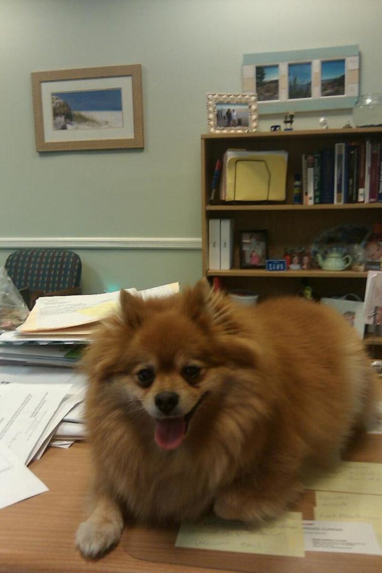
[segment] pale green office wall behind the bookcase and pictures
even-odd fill
[[[382,91],[381,21],[380,0],[0,0],[0,264],[19,240],[77,238],[84,292],[198,280],[206,93],[241,92],[244,53],[348,44],[361,91]],[[30,73],[120,64],[142,66],[144,150],[38,154]],[[351,110],[325,115],[341,127]],[[179,245],[82,248],[89,237]]]

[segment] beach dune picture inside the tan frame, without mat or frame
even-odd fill
[[[52,93],[53,129],[123,127],[121,89]]]

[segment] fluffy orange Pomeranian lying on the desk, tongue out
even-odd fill
[[[92,512],[77,547],[115,546],[124,518],[278,516],[311,460],[371,421],[379,379],[355,329],[298,297],[244,307],[207,281],[165,299],[121,291],[83,359]]]

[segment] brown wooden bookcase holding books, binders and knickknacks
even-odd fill
[[[210,281],[220,278],[226,290],[253,289],[261,297],[297,294],[304,280],[318,296],[356,293],[363,297],[367,272],[344,270],[328,272],[318,268],[269,272],[265,269],[241,269],[239,262],[240,230],[266,229],[269,258],[282,258],[285,246],[309,246],[318,233],[342,223],[372,225],[382,222],[382,203],[346,203],[345,205],[293,205],[294,174],[301,173],[302,154],[334,147],[337,142],[382,140],[381,128],[320,129],[314,131],[253,132],[246,134],[202,135],[202,241],[203,274]],[[210,204],[212,177],[217,159],[228,148],[254,151],[288,152],[286,200],[278,205],[254,205],[220,202]],[[210,218],[234,219],[234,264],[230,270],[208,268],[208,221]]]

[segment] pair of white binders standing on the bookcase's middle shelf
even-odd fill
[[[210,219],[208,222],[208,266],[210,269],[232,268],[234,219]]]

